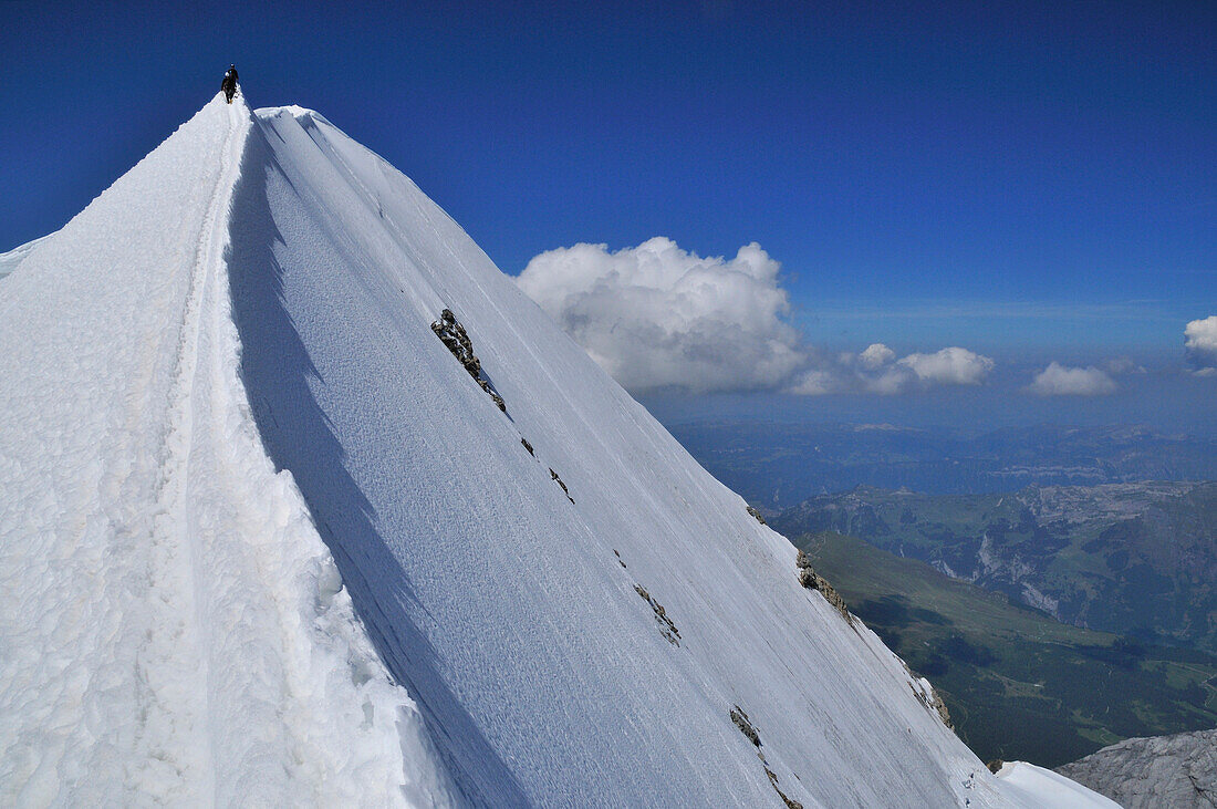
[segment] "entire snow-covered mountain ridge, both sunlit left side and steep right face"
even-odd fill
[[[5,803],[1038,800],[316,113],[213,100],[29,252],[0,378]]]

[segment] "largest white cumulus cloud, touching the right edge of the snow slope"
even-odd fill
[[[656,237],[608,252],[579,243],[533,258],[517,279],[622,386],[738,391],[803,386],[811,350],[785,316],[780,264],[756,242],[702,258]]]

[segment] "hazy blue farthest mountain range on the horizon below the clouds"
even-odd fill
[[[719,481],[767,513],[858,485],[931,494],[1217,479],[1217,440],[1148,427],[1010,427],[983,434],[892,425],[669,425]]]

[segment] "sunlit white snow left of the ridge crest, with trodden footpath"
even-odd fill
[[[441,788],[237,378],[251,124],[212,101],[0,286],[6,805]]]

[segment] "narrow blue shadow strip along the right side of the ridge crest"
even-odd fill
[[[241,343],[241,377],[254,422],[276,470],[292,473],[355,609],[394,680],[416,701],[456,788],[473,805],[528,805],[518,780],[444,681],[437,653],[411,619],[420,608],[375,510],[344,466],[346,451],[310,388],[325,380],[284,300],[287,271],[274,253],[284,235],[268,198],[279,173],[256,119],[232,196],[229,281]],[[409,766],[409,762],[406,763]]]

